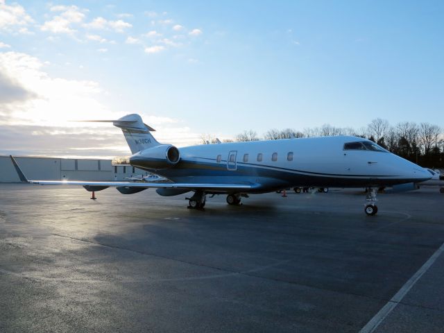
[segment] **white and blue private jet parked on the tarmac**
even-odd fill
[[[160,144],[138,114],[110,122],[121,128],[128,142],[130,164],[155,173],[168,182],[89,182],[28,180],[15,159],[22,182],[41,185],[81,185],[87,191],[117,187],[122,194],[156,188],[160,196],[192,192],[189,207],[202,209],[207,195],[226,194],[229,205],[241,204],[248,194],[289,187],[366,188],[364,212],[377,213],[377,189],[416,184],[429,172],[361,137],[309,137],[255,142],[205,144],[177,148]],[[94,196],[94,195],[93,195]]]

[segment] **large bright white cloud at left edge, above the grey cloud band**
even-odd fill
[[[0,53],[0,125],[42,124],[56,126],[67,118],[105,115],[96,101],[103,93],[88,80],[52,78],[42,70],[44,62],[26,53]],[[0,114],[1,116],[1,114]]]

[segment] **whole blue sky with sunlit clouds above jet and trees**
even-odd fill
[[[130,155],[271,128],[444,126],[443,1],[0,0],[0,154]]]

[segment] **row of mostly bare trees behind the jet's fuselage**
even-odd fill
[[[326,137],[334,135],[354,135],[370,139],[386,148],[388,151],[400,155],[422,167],[444,167],[444,134],[443,128],[432,123],[414,123],[404,121],[391,126],[385,119],[373,119],[367,126],[358,130],[354,128],[339,128],[325,124],[316,128],[304,128],[302,131],[286,128],[283,130],[271,129],[259,138],[254,130],[239,133],[234,139],[223,142],[246,142],[260,139],[291,139],[298,137]],[[202,144],[218,143],[218,139],[210,135],[201,137]]]

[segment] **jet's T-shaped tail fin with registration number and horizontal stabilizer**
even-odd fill
[[[146,148],[159,146],[160,143],[151,135],[150,132],[155,131],[154,128],[146,125],[139,114],[127,114],[117,120],[88,120],[99,123],[112,123],[114,126],[121,128],[125,135],[126,142],[130,146],[131,153],[135,154]]]

